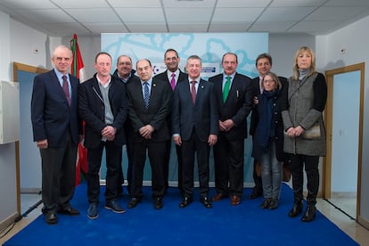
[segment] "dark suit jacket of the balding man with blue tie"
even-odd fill
[[[129,102],[129,119],[135,133],[135,141],[143,141],[138,134],[141,127],[151,125],[154,128],[152,142],[166,141],[170,138],[167,117],[172,104],[172,88],[158,78],[152,78],[149,108],[143,102],[143,90],[140,80],[133,80],[127,84],[127,98]]]

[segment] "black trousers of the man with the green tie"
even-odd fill
[[[214,145],[215,184],[217,193],[242,196],[244,140],[230,141],[220,134]]]

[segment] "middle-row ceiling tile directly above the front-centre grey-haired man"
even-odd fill
[[[210,20],[212,10],[202,8],[166,8],[165,12],[167,21],[203,22]]]

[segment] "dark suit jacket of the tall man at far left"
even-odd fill
[[[66,130],[70,127],[74,143],[82,125],[78,119],[78,78],[70,75],[71,103],[68,105],[59,79],[54,70],[37,75],[34,79],[31,99],[33,140],[47,139],[49,147],[61,147]]]

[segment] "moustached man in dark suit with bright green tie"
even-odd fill
[[[234,206],[240,204],[242,198],[246,118],[252,108],[251,79],[237,73],[237,65],[237,55],[225,53],[224,72],[209,78],[214,83],[220,131],[213,149],[217,194],[212,201],[224,199],[229,193]]]

